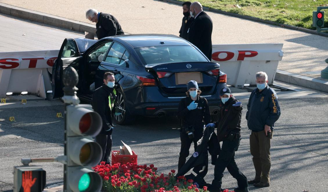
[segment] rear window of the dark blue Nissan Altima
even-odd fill
[[[136,49],[144,64],[207,61],[193,46],[172,45],[141,47]]]

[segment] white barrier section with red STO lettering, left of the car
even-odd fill
[[[27,91],[46,98],[46,92],[52,89],[49,72],[58,53],[59,50],[0,52],[0,97],[7,92]]]

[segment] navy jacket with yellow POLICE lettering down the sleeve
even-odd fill
[[[254,89],[247,104],[247,126],[252,131],[264,130],[268,125],[273,130],[275,122],[279,119],[280,107],[276,91],[267,86],[261,92]]]

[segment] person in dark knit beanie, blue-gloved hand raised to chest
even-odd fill
[[[181,99],[179,103],[177,117],[182,127],[178,170],[186,163],[192,142],[194,142],[194,149],[196,150],[197,141],[203,136],[204,122],[205,124],[211,122],[207,100],[199,96],[200,93],[197,82],[189,81],[187,84],[187,97]]]

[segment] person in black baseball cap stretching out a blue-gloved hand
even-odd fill
[[[224,87],[220,90],[220,116],[217,122],[209,123],[206,126],[217,128],[218,142],[222,142],[214,167],[214,180],[208,186],[208,190],[221,191],[223,171],[228,169],[229,173],[237,180],[238,187],[235,192],[248,191],[246,176],[239,170],[235,162],[235,152],[238,150],[240,142],[240,121],[241,102],[231,94],[230,88]]]

